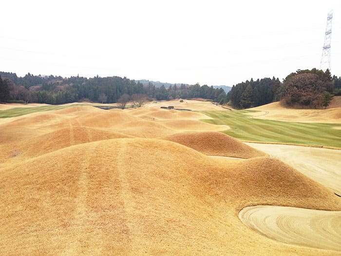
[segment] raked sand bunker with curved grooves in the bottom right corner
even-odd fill
[[[239,218],[278,241],[341,251],[341,211],[259,205],[244,208]]]

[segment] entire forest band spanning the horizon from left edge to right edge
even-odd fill
[[[18,77],[16,73],[0,72],[0,102],[115,103],[119,102],[123,95],[132,97],[143,94],[149,100],[204,98],[220,104],[228,103],[236,109],[256,107],[279,100],[287,106],[322,108],[328,106],[334,95],[341,95],[341,77],[331,77],[329,70],[323,72],[315,68],[297,70],[282,82],[275,77],[246,80],[233,85],[227,94],[222,88],[200,86],[198,83],[165,83],[155,86],[152,82],[145,81],[136,82],[126,77],[63,78],[30,73]]]

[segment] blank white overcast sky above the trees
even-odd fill
[[[320,68],[340,0],[2,0],[0,71],[228,85]]]

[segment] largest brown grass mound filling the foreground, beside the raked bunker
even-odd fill
[[[123,138],[0,169],[1,252],[335,253],[268,239],[238,219],[259,203],[341,209],[329,190],[278,160],[224,163],[178,143]]]

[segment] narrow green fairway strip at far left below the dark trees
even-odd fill
[[[72,106],[84,106],[84,104],[75,104],[75,105],[68,105],[68,106],[61,106],[61,105],[49,105],[49,106],[41,106],[41,107],[14,107],[7,110],[0,111],[0,118],[13,118],[19,117],[31,113],[36,112],[43,112],[43,111],[51,111],[51,110],[58,110],[63,108],[68,108]]]

